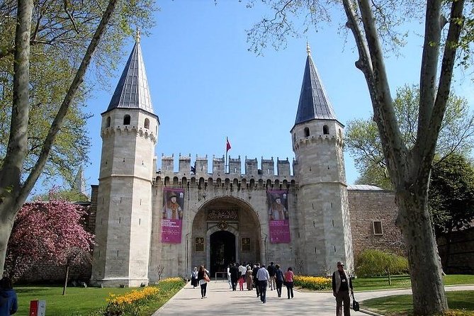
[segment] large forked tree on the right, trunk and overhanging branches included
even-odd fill
[[[252,6],[256,1],[247,1]],[[281,47],[286,38],[344,11],[344,26],[353,35],[361,70],[373,107],[383,157],[395,188],[395,203],[407,246],[414,315],[441,314],[448,309],[441,265],[428,208],[431,162],[451,94],[456,63],[468,64],[473,41],[473,1],[305,1],[264,0],[271,8],[249,31],[250,50],[261,52],[266,43]],[[467,16],[465,16],[467,14]],[[384,53],[402,45],[407,19],[424,25],[422,62],[419,69],[419,103],[414,146],[407,145],[395,115]],[[296,24],[295,24],[296,23]],[[456,60],[456,54],[461,59]],[[423,262],[422,265],[419,263]]]

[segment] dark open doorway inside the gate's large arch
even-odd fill
[[[235,261],[235,235],[226,230],[210,235],[210,275],[226,272],[227,265]]]

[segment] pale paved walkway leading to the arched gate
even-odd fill
[[[474,286],[448,286],[446,290],[474,290]],[[376,290],[360,293],[356,291],[354,294],[356,300],[361,301],[381,296],[410,293],[412,293],[412,290]],[[201,289],[199,287],[193,288],[190,283],[187,283],[152,316],[335,315],[336,302],[332,293],[294,291],[294,294],[295,297],[288,300],[285,286],[283,286],[281,298],[277,297],[276,290],[267,290],[266,304],[262,304],[260,298],[256,297],[255,290],[232,291],[229,289],[227,281],[211,281],[208,283],[207,298],[201,299]],[[351,310],[351,315],[365,314]]]

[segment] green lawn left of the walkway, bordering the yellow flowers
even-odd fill
[[[141,310],[140,315],[152,315],[169,298],[184,286],[181,284],[159,283],[159,298],[152,300]],[[66,295],[62,295],[61,286],[16,286],[18,295],[18,312],[15,315],[28,316],[30,300],[45,300],[46,315],[85,316],[101,315],[96,311],[106,307],[106,299],[111,293],[122,295],[130,292],[131,288],[67,288]]]

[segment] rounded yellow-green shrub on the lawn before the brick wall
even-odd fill
[[[391,276],[408,272],[408,260],[404,256],[383,252],[379,249],[365,249],[356,258],[356,274],[363,278],[387,276],[388,285],[392,285]]]

